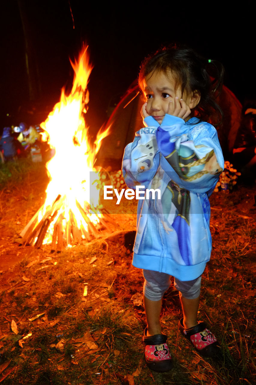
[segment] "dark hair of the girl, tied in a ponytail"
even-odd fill
[[[220,124],[223,112],[216,103],[216,97],[223,85],[223,65],[216,60],[204,59],[188,47],[164,47],[146,57],[141,64],[140,89],[143,90],[143,80],[152,72],[167,74],[170,70],[181,85],[182,94],[193,91],[200,94],[200,101],[191,114],[203,121],[210,120],[214,125]]]

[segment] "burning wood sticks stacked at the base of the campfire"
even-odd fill
[[[40,221],[38,220],[38,214],[42,211],[44,205],[37,211],[37,213],[35,213],[33,218],[20,233],[20,236],[22,237],[21,243],[24,246],[30,244],[34,245],[36,248],[40,248],[47,235],[50,224],[57,216],[58,218],[55,221],[52,234],[52,251],[58,252],[62,251],[63,246],[71,245],[71,243],[82,243],[83,239],[90,241],[92,238],[98,238],[100,236],[100,229],[106,228],[109,231],[112,231],[107,222],[116,225],[106,209],[101,208],[99,210],[101,216],[98,216],[96,210],[91,208],[89,203],[86,203],[86,205],[82,207],[81,204],[76,201],[76,207],[87,224],[87,228],[83,225],[78,227],[75,215],[71,209],[69,210],[69,219],[66,223],[66,227],[63,228],[64,201],[65,196],[62,197],[61,195],[58,195],[52,206],[47,207],[45,214]],[[94,212],[97,215],[99,223],[94,224],[90,221],[87,214],[91,212]]]

